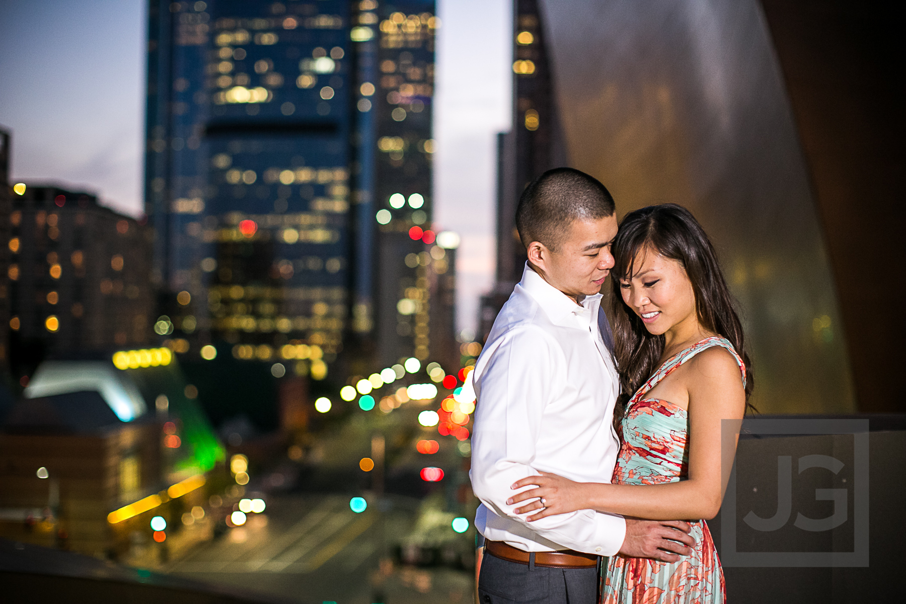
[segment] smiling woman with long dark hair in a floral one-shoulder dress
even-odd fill
[[[510,501],[527,502],[516,513],[534,512],[529,521],[584,509],[651,520],[713,518],[752,391],[742,326],[717,255],[689,210],[665,204],[623,218],[613,256],[623,395],[614,417],[622,446],[612,484],[543,474],[514,484],[535,488]],[[732,436],[723,458],[722,436]],[[690,556],[668,562],[613,556],[603,604],[725,601],[708,525],[691,524]]]

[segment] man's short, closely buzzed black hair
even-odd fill
[[[516,230],[526,248],[537,241],[555,252],[574,221],[599,220],[614,211],[610,191],[597,178],[554,168],[525,187],[516,208]]]

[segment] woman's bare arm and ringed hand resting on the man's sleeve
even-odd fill
[[[546,473],[528,476],[516,482],[513,488],[531,484],[536,488],[516,494],[510,501],[535,501],[523,505],[516,513],[541,510],[529,516],[528,521],[582,509],[651,520],[713,518],[727,488],[746,395],[736,361],[726,350],[715,348],[700,352],[689,361],[686,374],[684,383],[689,391],[688,480],[633,485],[573,483],[562,476]],[[538,498],[543,498],[545,503]]]

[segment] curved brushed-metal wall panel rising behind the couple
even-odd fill
[[[756,0],[545,0],[570,163],[618,213],[674,202],[718,247],[766,413],[854,410],[808,172]]]

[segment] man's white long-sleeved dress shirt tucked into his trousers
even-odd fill
[[[477,407],[469,476],[481,500],[475,525],[486,539],[602,556],[622,546],[622,516],[580,510],[529,523],[531,513],[513,513],[525,502],[506,504],[517,493],[510,485],[539,470],[611,482],[619,380],[598,327],[601,297],[579,305],[526,264],[494,321],[471,374]]]

